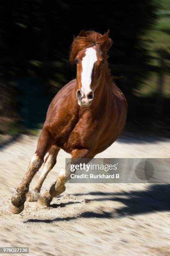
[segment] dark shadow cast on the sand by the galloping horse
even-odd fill
[[[149,189],[143,191],[132,191],[130,193],[103,193],[103,192],[90,192],[87,194],[74,194],[75,196],[82,195],[93,195],[101,196],[98,198],[92,198],[90,201],[118,201],[122,202],[125,206],[115,209],[114,212],[82,212],[77,217],[67,217],[67,218],[55,218],[52,220],[38,220],[30,219],[24,223],[29,222],[45,222],[52,223],[55,221],[63,220],[75,220],[77,218],[122,218],[138,214],[146,214],[152,212],[163,212],[170,210],[170,184],[153,184]],[[77,203],[77,202],[75,202]],[[65,204],[65,206],[68,203]]]

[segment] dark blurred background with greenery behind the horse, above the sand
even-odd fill
[[[0,142],[36,134],[54,95],[75,78],[82,30],[113,40],[110,68],[128,100],[125,131],[170,137],[170,1],[0,1]]]

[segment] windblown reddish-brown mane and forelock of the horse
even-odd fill
[[[95,44],[101,44],[100,43],[100,38],[103,36],[100,33],[97,33],[95,31],[89,30],[85,31],[86,36],[76,36],[74,37],[71,47],[70,47],[70,62],[73,64],[75,61],[75,57],[78,54],[79,51],[81,51],[84,48],[89,48],[94,46]],[[105,54],[107,54],[107,50],[110,49],[112,46],[112,39],[108,38],[107,43],[105,44]],[[107,58],[109,56],[107,55]],[[108,62],[107,62],[107,67],[106,67],[106,79],[107,82],[111,85],[113,84],[112,82],[112,76],[110,74],[110,69],[108,67]]]

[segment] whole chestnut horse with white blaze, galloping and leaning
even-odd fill
[[[71,154],[71,162],[93,158],[122,132],[127,102],[112,82],[107,64],[107,51],[111,46],[109,31],[102,35],[83,30],[74,38],[70,62],[77,64],[77,77],[62,87],[50,103],[35,154],[11,198],[11,212],[23,211],[27,194],[30,201],[38,200],[42,205],[49,205],[53,197],[65,191],[70,172],[66,175],[62,169],[48,192],[40,196],[42,183],[55,165],[60,148]],[[30,182],[42,164],[42,174],[33,192],[29,192]]]

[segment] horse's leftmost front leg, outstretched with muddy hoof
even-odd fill
[[[51,147],[52,143],[52,137],[50,136],[48,131],[43,129],[38,139],[35,154],[32,156],[30,164],[28,165],[28,170],[19,187],[17,188],[15,194],[11,198],[11,203],[9,207],[10,212],[18,214],[23,211],[26,194],[29,191],[30,182],[32,181],[32,178],[34,177],[36,172],[42,166],[44,156],[47,153],[48,149]]]

